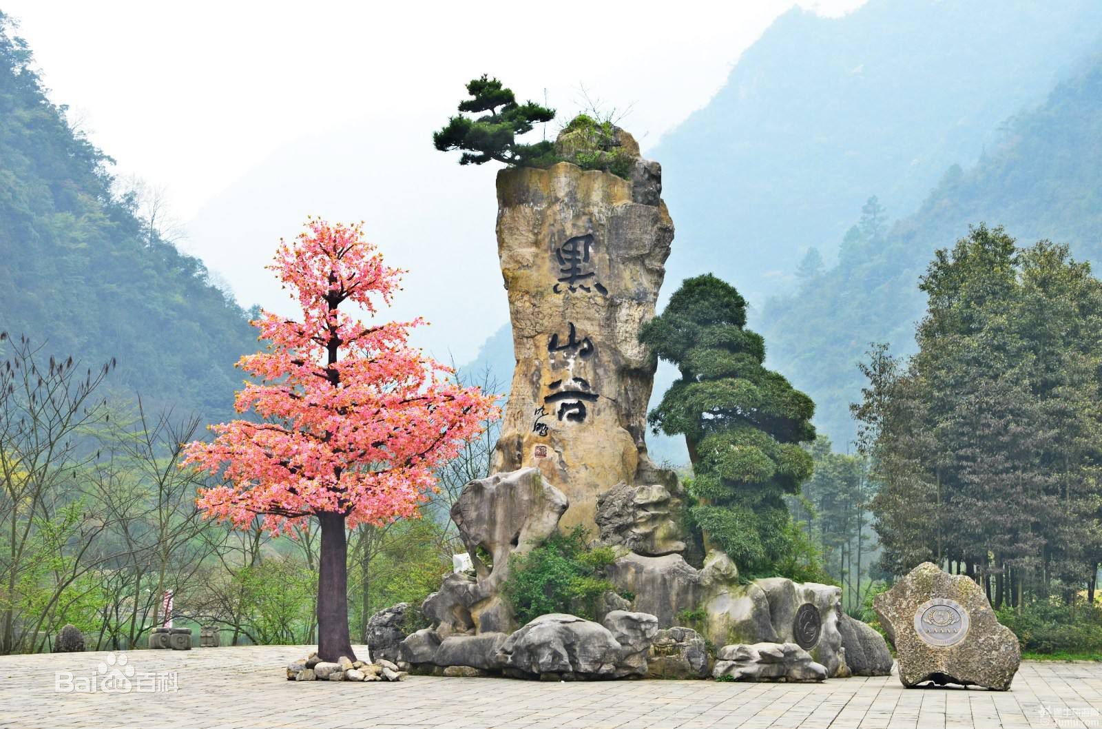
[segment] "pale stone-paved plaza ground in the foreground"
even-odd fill
[[[0,656],[0,727],[1102,727],[1102,664],[1025,662],[1008,693],[905,689],[895,676],[811,685],[428,676],[367,685],[283,680],[282,664],[306,653],[306,646],[134,651],[127,664],[134,669],[131,690],[96,694],[57,692],[54,672],[93,676],[99,664],[107,666],[107,653]],[[175,692],[144,690],[165,683],[171,688],[171,672]]]

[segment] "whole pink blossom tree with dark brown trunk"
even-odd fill
[[[346,528],[414,516],[434,469],[498,414],[493,395],[450,382],[450,368],[410,346],[422,320],[368,325],[348,313],[358,304],[374,317],[401,275],[358,225],[306,227],[269,267],[302,307],[301,321],[262,312],[252,324],[268,347],[237,363],[255,382],[236,408],[260,421],[212,426],[213,441],[191,443],[185,464],[220,473],[223,485],[199,491],[208,516],[247,527],[262,514],[276,534],[317,519],[317,652],[355,660]]]

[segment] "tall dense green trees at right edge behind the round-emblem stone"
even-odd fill
[[[883,349],[861,446],[886,567],[933,559],[984,583],[992,601],[1093,585],[1102,282],[1066,246],[1018,248],[981,225],[937,251],[928,312],[905,365]]]

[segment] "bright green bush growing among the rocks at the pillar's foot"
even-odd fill
[[[611,547],[590,549],[585,529],[554,534],[523,556],[512,557],[503,586],[520,623],[551,612],[594,620],[602,596],[615,591],[604,579],[604,568],[616,560]]]

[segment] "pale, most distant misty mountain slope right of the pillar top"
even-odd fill
[[[865,199],[915,210],[1100,33],[1096,0],[871,0],[840,19],[781,15],[650,150],[678,226],[667,280],[710,270],[752,302],[789,289],[803,250],[832,253]]]

